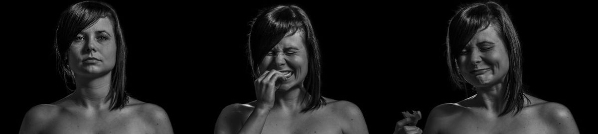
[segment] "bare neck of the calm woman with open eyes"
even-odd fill
[[[106,73],[98,77],[75,74],[77,89],[75,89],[74,98],[78,101],[78,104],[88,109],[109,109],[110,100],[106,100],[106,96],[110,91],[111,76],[112,73]]]

